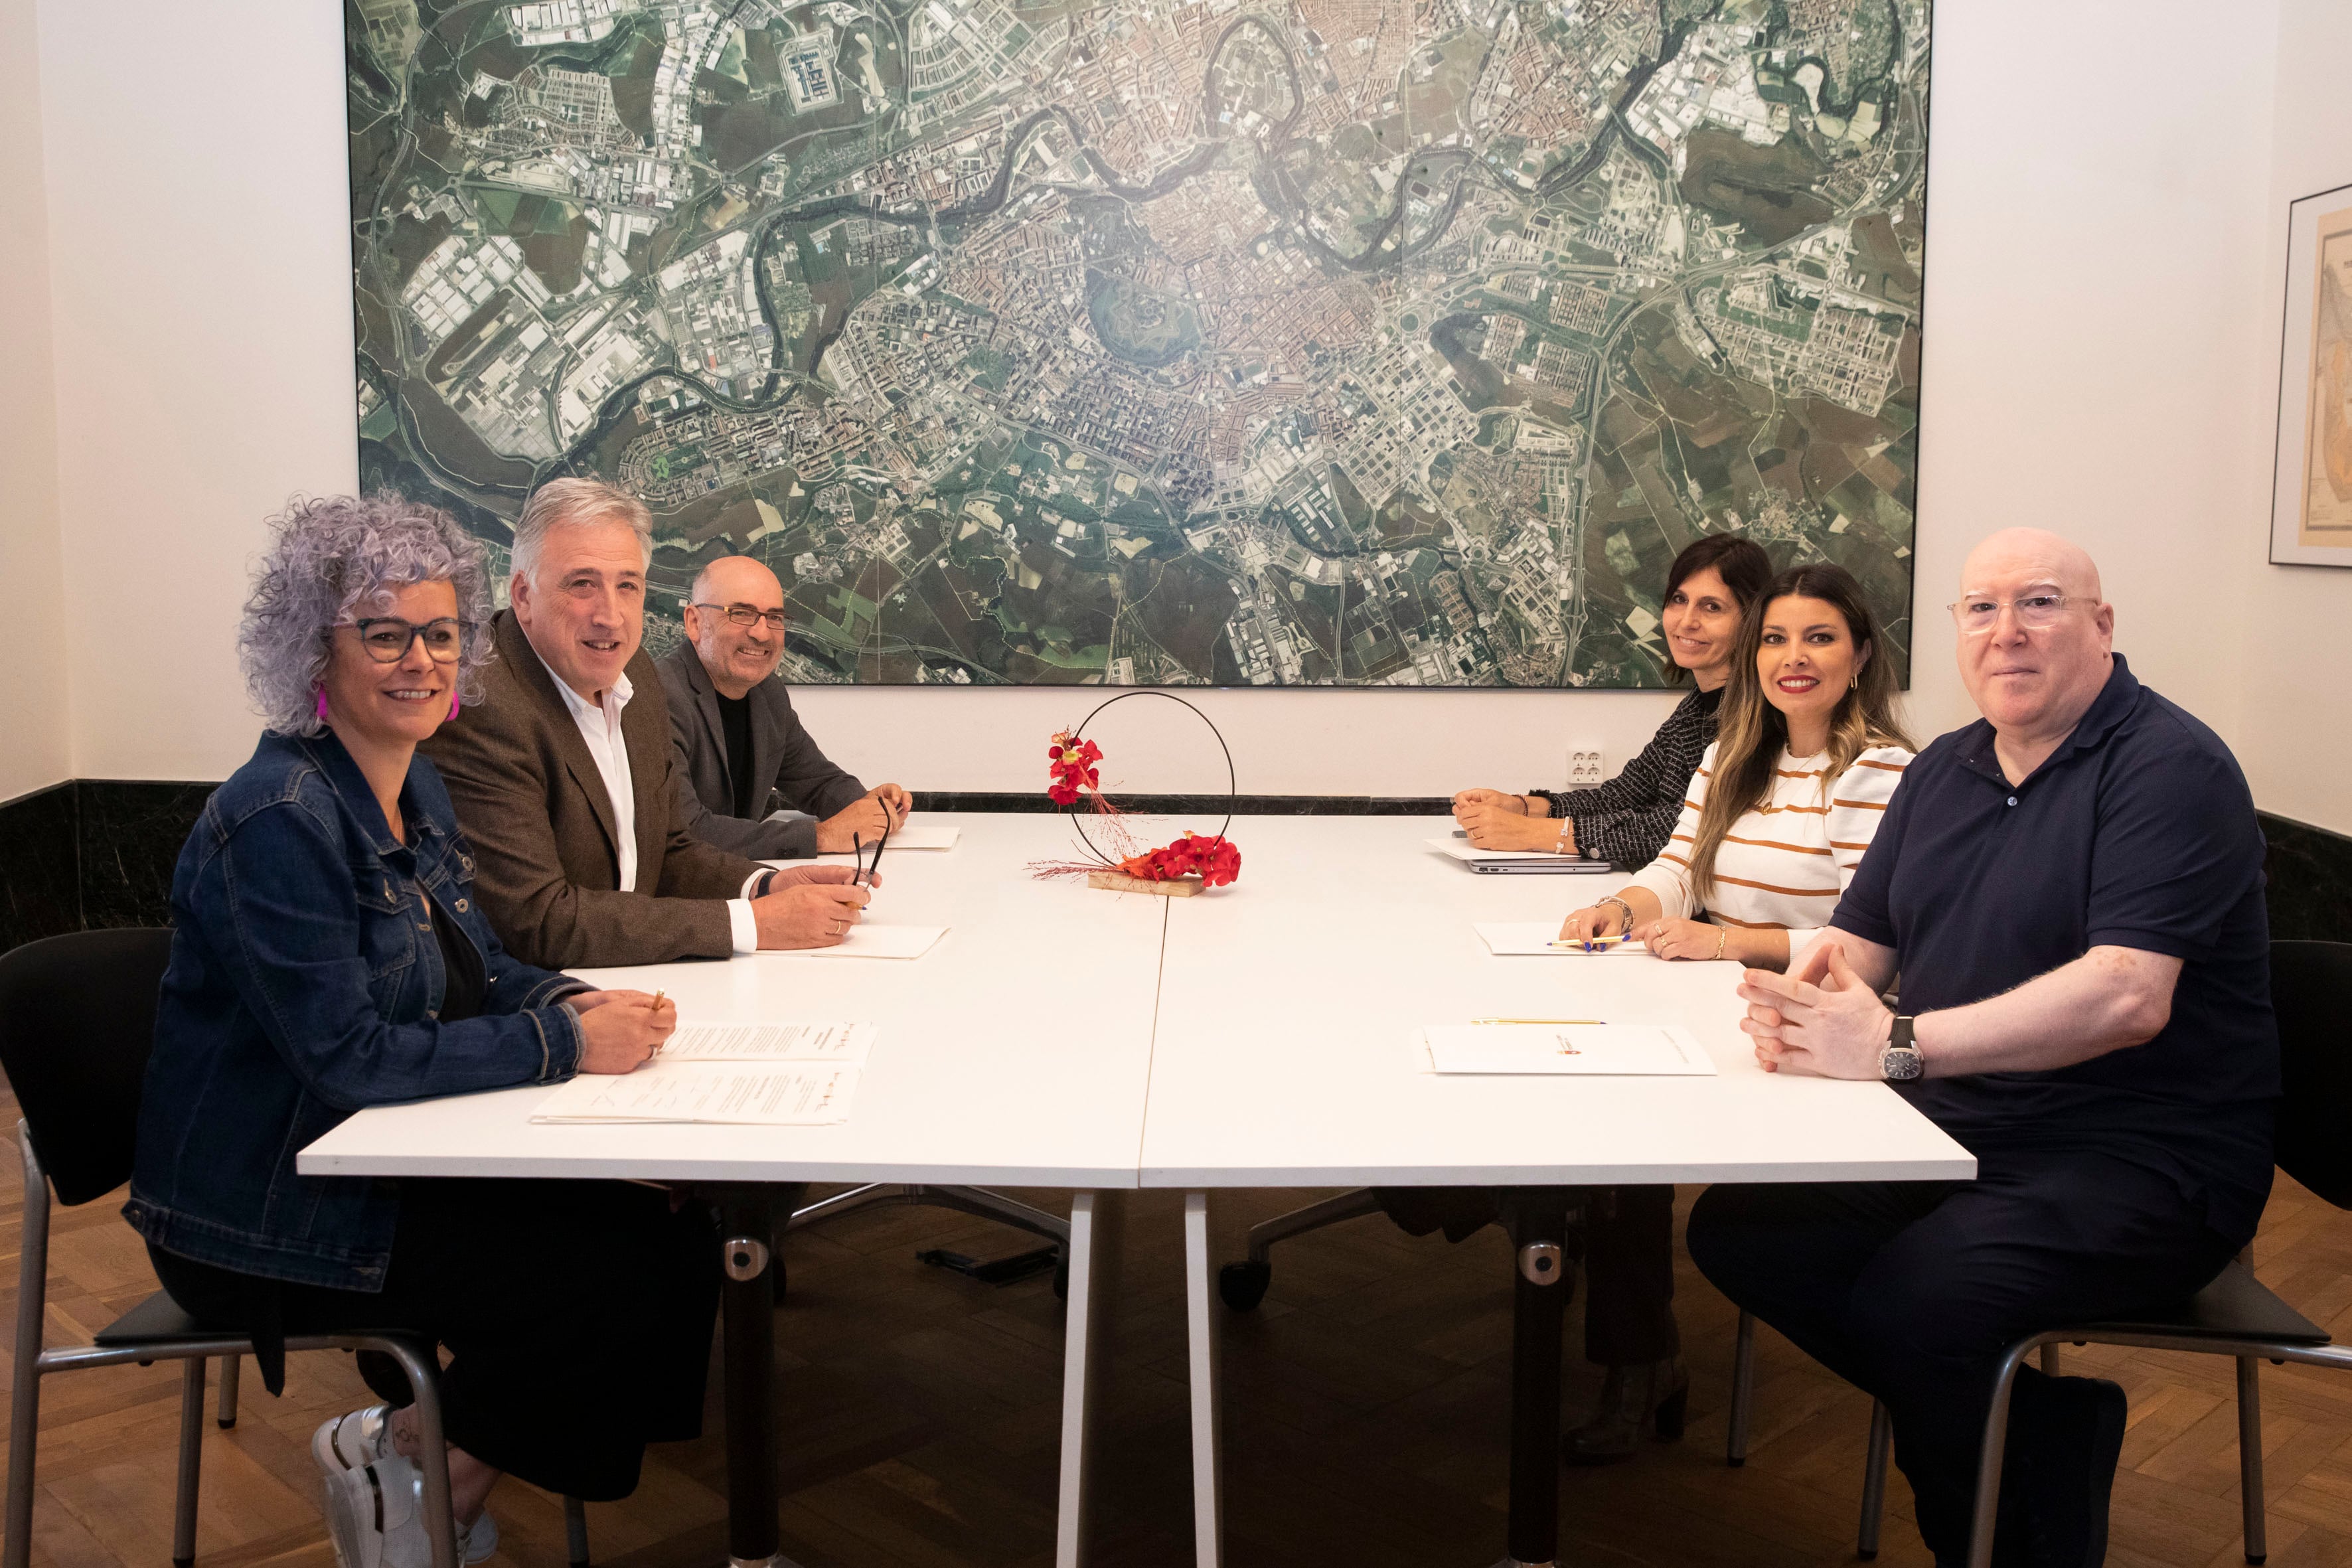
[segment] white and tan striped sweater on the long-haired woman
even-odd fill
[[[1731,823],[1715,851],[1708,919],[1788,931],[1795,959],[1830,924],[1837,896],[1853,882],[1853,867],[1863,863],[1910,759],[1900,745],[1875,745],[1830,778],[1825,757],[1790,757],[1783,750],[1773,764],[1771,797]],[[1691,896],[1691,844],[1698,842],[1698,813],[1708,804],[1712,778],[1710,745],[1691,776],[1665,851],[1635,875],[1635,886],[1656,893],[1670,919],[1691,919],[1698,907]]]

